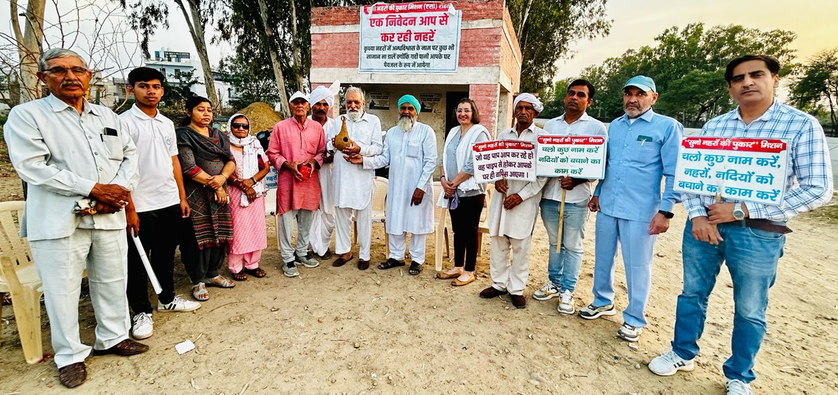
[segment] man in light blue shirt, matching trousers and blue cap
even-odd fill
[[[597,214],[596,258],[591,305],[579,311],[593,320],[617,314],[614,308],[614,257],[622,245],[623,265],[629,286],[629,305],[623,311],[623,326],[617,336],[637,341],[646,318],[644,310],[652,285],[652,251],[655,236],[666,232],[678,203],[673,192],[675,162],[684,126],[656,114],[658,100],[654,80],[644,75],[623,86],[625,115],[608,128],[608,164],[605,178],[597,184],[588,203]],[[663,196],[661,178],[665,177]]]

